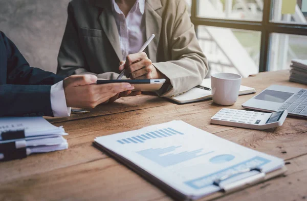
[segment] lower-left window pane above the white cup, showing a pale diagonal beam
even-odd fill
[[[198,38],[211,74],[232,72],[247,77],[259,72],[260,32],[198,26]]]

